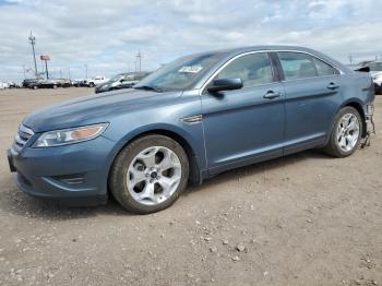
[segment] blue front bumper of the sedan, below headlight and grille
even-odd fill
[[[115,142],[95,140],[47,148],[8,151],[17,187],[27,194],[69,205],[107,202],[107,177]]]

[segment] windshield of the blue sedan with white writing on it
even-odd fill
[[[150,87],[156,91],[190,88],[208,69],[226,53],[214,52],[180,58],[143,79],[134,88]]]

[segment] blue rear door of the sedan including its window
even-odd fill
[[[305,52],[277,52],[285,88],[285,154],[325,142],[341,94],[339,72]]]

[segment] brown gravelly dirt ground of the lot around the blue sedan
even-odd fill
[[[0,91],[0,285],[382,285],[382,96],[371,146],[222,174],[170,208],[132,215],[17,190],[20,121],[91,88]]]

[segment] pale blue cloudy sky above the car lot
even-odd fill
[[[298,45],[349,63],[382,57],[377,0],[0,0],[0,81],[33,78],[32,47],[55,78],[155,70],[180,56]]]

